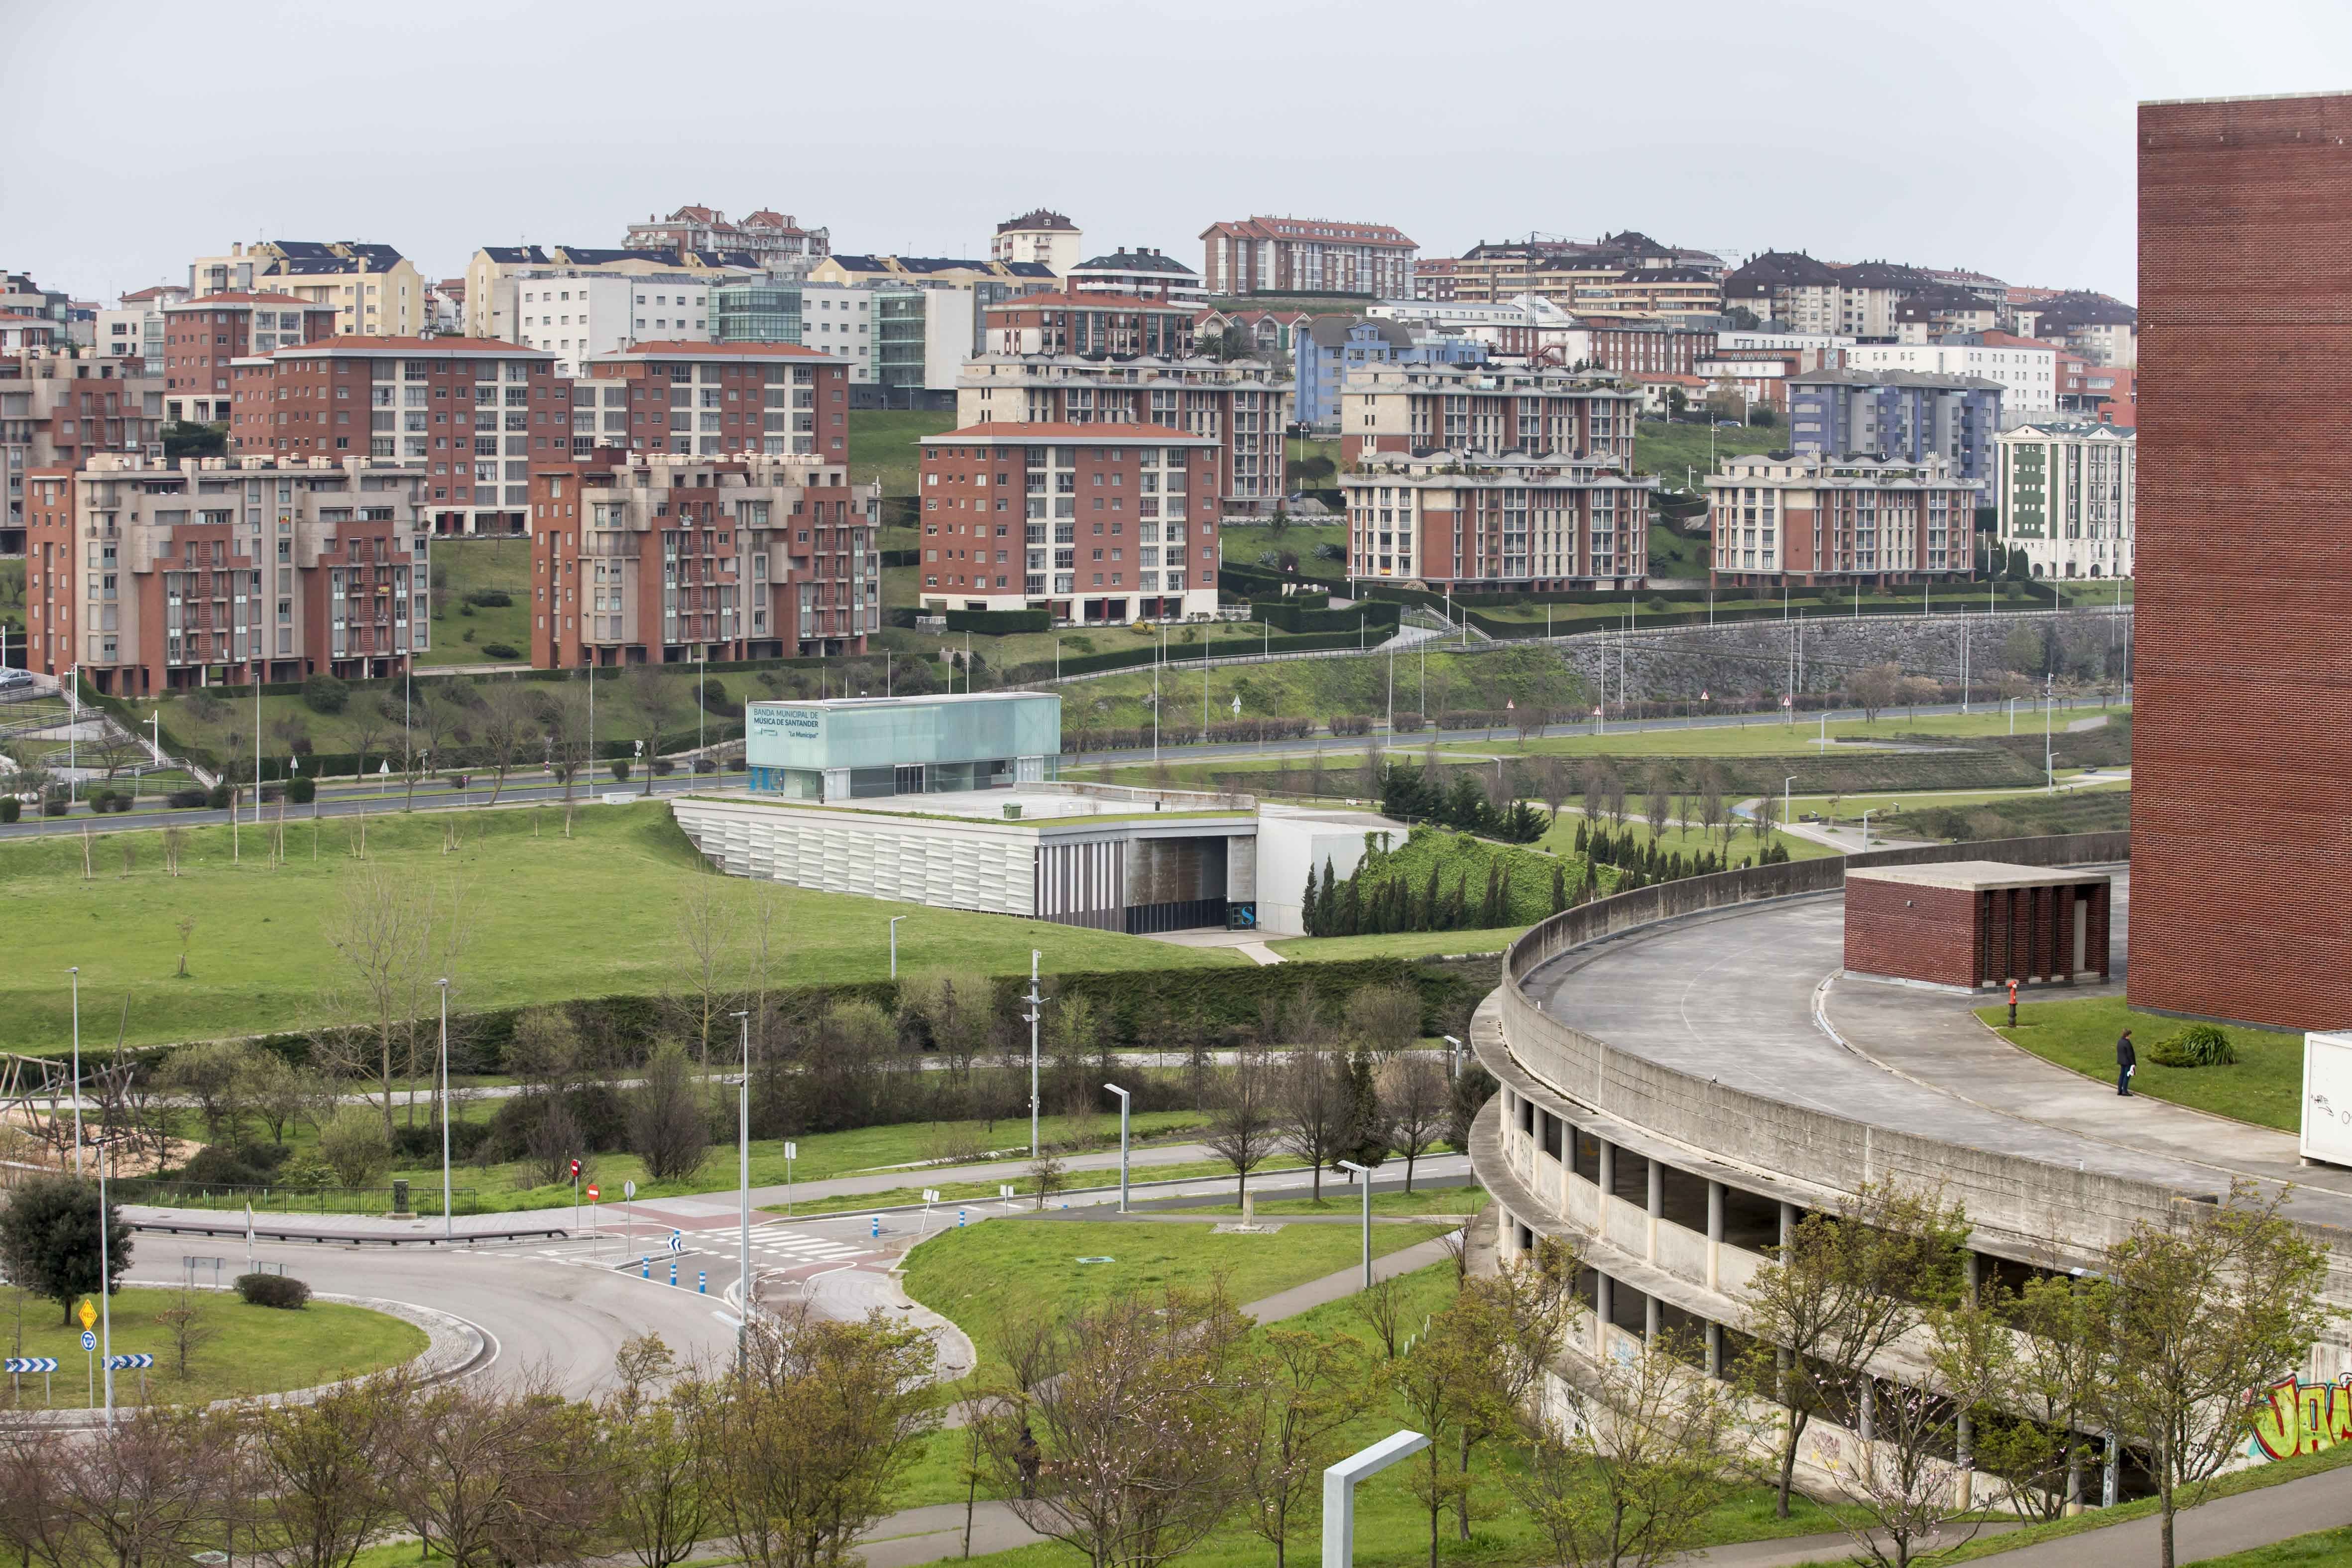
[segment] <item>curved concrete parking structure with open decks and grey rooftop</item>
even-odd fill
[[[2114,980],[2084,990],[2112,994],[2126,858],[2126,835],[2077,835],[1797,860],[1604,898],[1519,938],[1472,1023],[1501,1093],[1470,1157],[1496,1199],[1498,1258],[1564,1237],[1590,1267],[1564,1371],[1684,1328],[1719,1373],[1766,1248],[1804,1211],[1886,1180],[1964,1204],[1971,1272],[2009,1284],[2093,1267],[2232,1178],[2293,1182],[2288,1213],[2333,1248],[2328,1298],[2352,1305],[2352,1171],[2303,1166],[2291,1133],[2119,1100],[1985,1030],[1971,1013],[1985,994],[1842,971],[1849,865],[2096,865],[2117,872]],[[2338,1324],[2303,1380],[2347,1375]],[[1813,1420],[1811,1481],[1844,1441]],[[2129,1458],[2112,1488],[2140,1490]]]

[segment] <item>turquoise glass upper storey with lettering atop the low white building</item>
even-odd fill
[[[1061,698],[1035,691],[750,703],[755,795],[880,799],[1054,778]]]

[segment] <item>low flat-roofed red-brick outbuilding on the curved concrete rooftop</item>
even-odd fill
[[[2107,978],[2110,877],[1999,860],[1846,870],[1846,969],[1978,990]]]

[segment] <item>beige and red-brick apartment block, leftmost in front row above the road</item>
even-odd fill
[[[28,668],[118,696],[400,675],[428,642],[428,487],[365,454],[35,470]]]

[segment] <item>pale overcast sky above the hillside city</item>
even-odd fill
[[[2133,296],[2133,103],[2352,87],[2345,0],[0,0],[0,268],[82,299],[233,240],[621,244],[682,202],[985,254],[1037,205],[1425,256],[1639,228]]]

